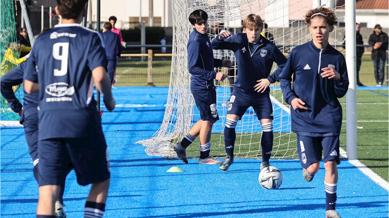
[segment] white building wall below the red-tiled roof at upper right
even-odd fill
[[[389,32],[389,10],[356,10],[356,22],[367,23],[367,28],[374,28],[376,24],[382,26],[384,32]],[[336,15],[338,16],[339,22],[344,22],[344,10],[337,10]]]

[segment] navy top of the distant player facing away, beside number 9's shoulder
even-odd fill
[[[107,60],[117,60],[117,57],[120,56],[122,50],[119,35],[107,30],[103,32],[101,36],[103,37]]]

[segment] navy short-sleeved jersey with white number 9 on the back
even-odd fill
[[[91,74],[106,67],[99,33],[79,24],[56,25],[37,38],[26,62],[24,79],[39,83],[40,140],[85,137],[91,122],[101,122],[93,120],[98,112]]]

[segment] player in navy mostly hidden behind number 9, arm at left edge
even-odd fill
[[[33,93],[31,95],[24,94],[24,105],[22,105],[18,98],[15,97],[15,93],[12,90],[12,86],[18,86],[23,83],[23,74],[26,62],[22,63],[15,69],[5,74],[0,79],[0,92],[8,101],[12,111],[20,116],[20,123],[23,124],[25,129],[25,137],[30,151],[30,156],[33,161],[33,173],[35,180],[38,182],[38,97],[39,93]],[[70,167],[68,171],[70,171]],[[66,213],[63,210],[63,192],[65,191],[65,181],[60,185],[60,193],[58,199],[55,202],[55,213],[59,218],[66,218]]]

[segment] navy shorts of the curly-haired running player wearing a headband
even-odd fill
[[[324,163],[339,158],[339,135],[312,137],[297,134],[297,151],[300,157],[301,167],[307,169],[312,163],[321,161],[322,151]]]

